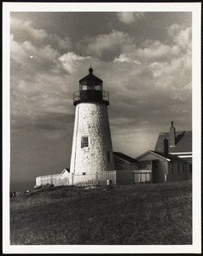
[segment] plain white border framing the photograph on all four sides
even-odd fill
[[[200,3],[3,3],[3,253],[201,253]],[[193,244],[186,246],[14,246],[9,243],[10,12],[192,12]]]

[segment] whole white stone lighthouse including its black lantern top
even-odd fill
[[[79,80],[73,94],[76,106],[70,173],[88,175],[114,170],[112,139],[107,106],[109,94],[102,90],[102,80],[89,74]]]

